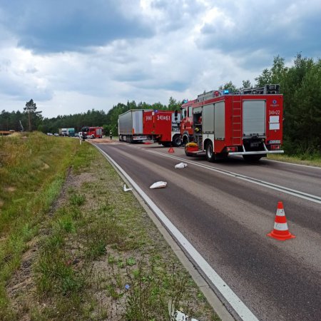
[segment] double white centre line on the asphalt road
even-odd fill
[[[232,176],[232,177],[235,177],[235,178],[239,178],[240,180],[246,180],[249,183],[253,183],[253,184],[256,184],[256,185],[261,185],[261,186],[264,186],[266,188],[270,188],[272,190],[279,190],[282,193],[290,194],[290,195],[293,195],[293,196],[295,196],[297,198],[303,198],[305,200],[310,200],[311,202],[315,202],[315,203],[321,204],[321,198],[319,196],[317,196],[317,195],[311,195],[311,194],[308,194],[308,193],[304,193],[304,192],[301,192],[300,190],[292,190],[291,188],[286,188],[286,187],[283,187],[283,186],[280,186],[280,185],[276,185],[276,184],[272,184],[272,183],[269,183],[269,182],[265,182],[264,180],[258,180],[257,178],[251,178],[250,176],[245,176],[245,175],[241,175],[241,174],[238,174],[238,173],[233,173],[233,172],[230,172],[229,170],[222,170],[220,168],[215,168],[213,166],[199,164],[199,163],[196,163],[195,161],[188,161],[185,158],[180,158],[178,156],[166,155],[164,153],[160,153],[160,152],[157,152],[157,151],[148,151],[148,152],[149,153],[156,153],[158,155],[161,155],[161,156],[164,156],[164,157],[168,157],[168,158],[177,159],[178,161],[184,161],[185,163],[190,163],[190,164],[193,164],[193,165],[201,167],[201,168],[206,168],[208,170],[213,170],[213,171],[215,171],[217,173],[221,173],[221,174],[224,174],[224,175],[228,175],[228,176]]]

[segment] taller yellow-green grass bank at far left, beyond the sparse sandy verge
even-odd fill
[[[0,319],[6,282],[58,197],[75,146],[41,133],[0,137]]]

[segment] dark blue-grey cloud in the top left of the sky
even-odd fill
[[[0,1],[0,24],[36,52],[81,51],[114,39],[153,34],[143,19],[129,19],[118,1]]]

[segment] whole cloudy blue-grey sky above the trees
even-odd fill
[[[167,105],[297,53],[321,58],[320,0],[0,0],[0,111]]]

